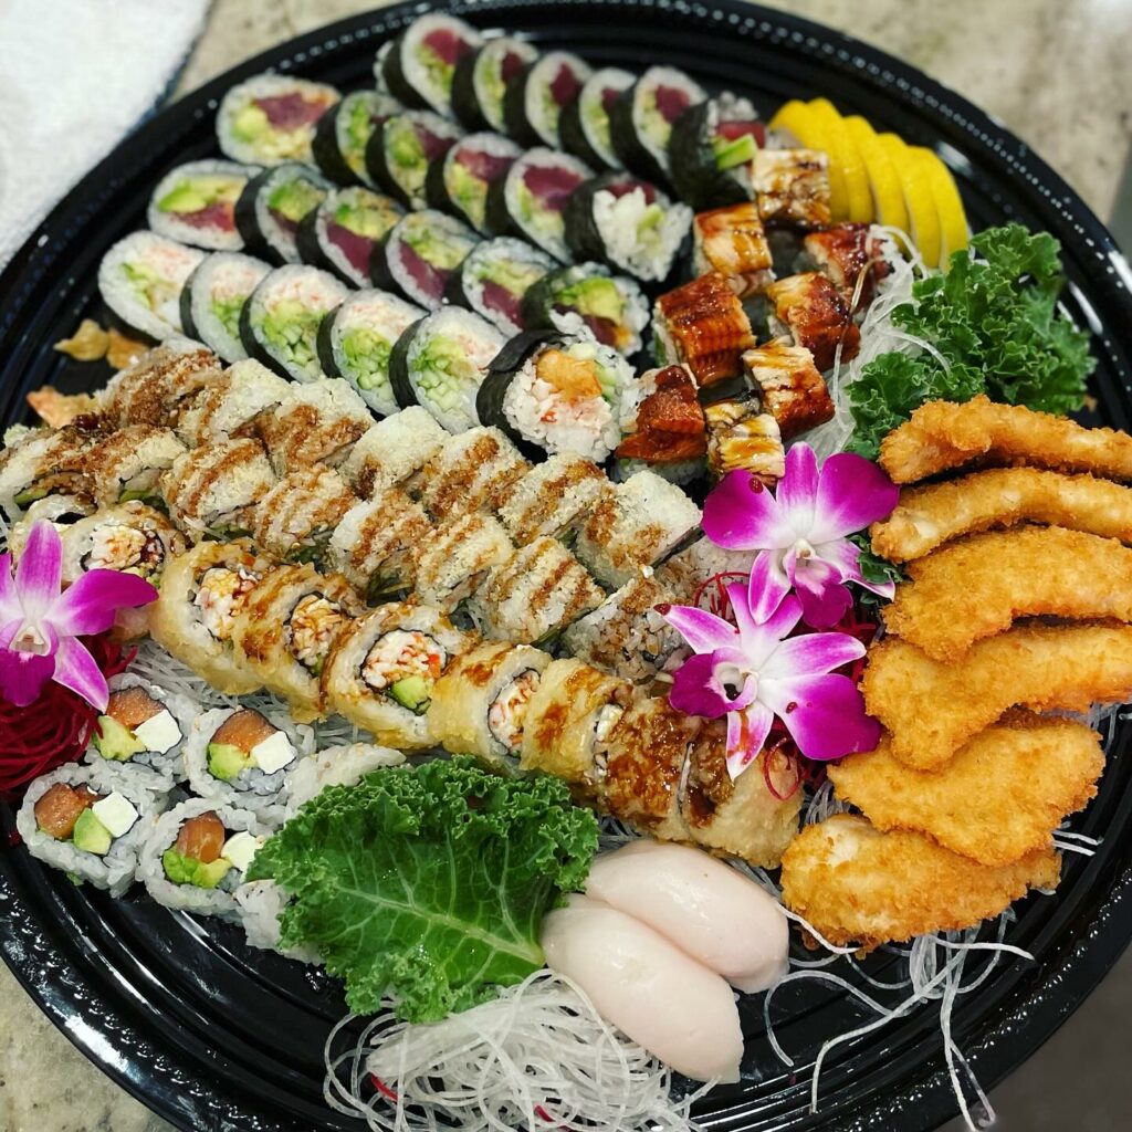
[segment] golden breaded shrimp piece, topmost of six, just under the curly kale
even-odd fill
[[[881,466],[897,483],[972,460],[1132,480],[1132,436],[978,396],[963,404],[929,401],[881,443]]]

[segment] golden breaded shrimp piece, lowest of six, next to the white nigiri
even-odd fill
[[[1053,889],[1061,858],[1038,849],[992,868],[923,833],[882,833],[864,817],[837,814],[807,825],[782,856],[782,900],[830,943],[903,943],[959,932],[998,916],[1029,889]]]

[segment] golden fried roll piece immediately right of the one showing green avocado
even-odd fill
[[[483,644],[458,657],[432,689],[434,740],[453,754],[515,765],[531,696],[549,663],[549,653],[525,644]]]

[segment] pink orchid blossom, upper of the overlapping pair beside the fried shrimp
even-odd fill
[[[860,550],[847,538],[886,518],[900,496],[872,461],[842,452],[817,468],[808,444],[786,457],[772,495],[749,472],[727,475],[704,503],[704,533],[729,550],[757,551],[751,571],[751,614],[765,621],[792,588],[801,616],[829,628],[852,604],[846,582],[891,598],[891,582],[866,582]]]

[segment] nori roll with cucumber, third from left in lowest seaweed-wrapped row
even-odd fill
[[[257,361],[292,381],[326,377],[318,363],[318,325],[349,292],[317,267],[276,267],[240,314],[240,337]]]

